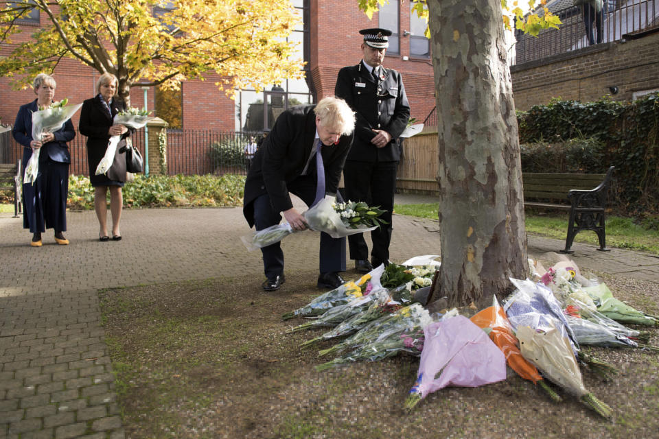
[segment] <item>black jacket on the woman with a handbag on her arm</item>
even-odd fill
[[[117,97],[112,99],[110,105],[112,117],[115,117],[117,112],[125,109],[126,104],[124,101]],[[78,129],[80,134],[87,137],[87,161],[89,162],[89,180],[92,185],[103,185],[108,180],[126,181],[126,152],[119,152],[119,150],[126,145],[126,137],[129,137],[130,133],[134,131],[131,128],[128,128],[128,131],[122,134],[122,140],[119,141],[117,152],[115,152],[115,160],[108,169],[107,176],[104,174],[95,175],[96,168],[108,149],[108,142],[110,141],[108,130],[113,125],[112,117],[108,115],[98,95],[82,102]]]

